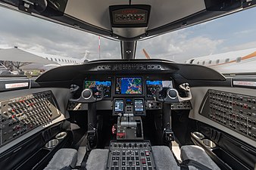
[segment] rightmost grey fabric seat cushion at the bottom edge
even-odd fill
[[[186,145],[180,148],[181,159],[192,159],[213,170],[220,170],[216,163],[205,153],[204,149],[196,145]],[[189,165],[189,169],[197,169]]]

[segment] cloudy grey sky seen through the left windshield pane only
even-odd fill
[[[67,57],[83,57],[86,51],[98,53],[98,36],[90,33],[5,8],[0,8],[0,20],[5,23],[0,27],[2,48],[17,46]],[[120,57],[120,42],[101,38],[101,57]]]

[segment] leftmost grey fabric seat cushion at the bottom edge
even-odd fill
[[[74,149],[64,148],[55,153],[45,170],[60,170],[67,166],[75,168],[76,161],[77,151]]]

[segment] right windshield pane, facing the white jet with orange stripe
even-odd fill
[[[136,57],[209,66],[220,73],[256,73],[256,9],[138,42]]]

